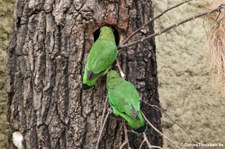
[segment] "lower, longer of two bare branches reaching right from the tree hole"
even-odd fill
[[[145,40],[147,40],[147,39],[156,37],[156,36],[158,36],[158,35],[160,35],[160,34],[162,34],[162,33],[165,33],[165,32],[167,32],[167,31],[169,31],[169,30],[171,30],[171,29],[173,29],[173,28],[176,28],[176,27],[180,26],[181,24],[184,24],[184,23],[186,23],[186,22],[195,20],[195,19],[197,19],[197,18],[199,18],[199,17],[208,15],[208,14],[210,14],[210,13],[213,13],[213,12],[216,12],[216,11],[220,11],[221,9],[224,9],[224,6],[220,5],[220,6],[218,6],[217,8],[212,9],[212,10],[210,10],[210,11],[207,11],[207,12],[204,12],[204,13],[201,13],[201,14],[198,14],[198,15],[195,15],[195,16],[192,16],[192,17],[189,17],[189,18],[187,18],[187,19],[185,19],[185,20],[183,20],[183,21],[181,21],[181,22],[178,22],[178,23],[176,23],[176,24],[173,24],[173,25],[171,25],[171,26],[169,26],[169,27],[163,29],[163,30],[160,31],[160,32],[151,34],[151,35],[149,35],[149,36],[147,36],[147,37],[145,37],[145,38],[142,38],[142,39],[140,39],[140,40],[133,41],[133,42],[128,43],[128,44],[120,45],[119,48],[125,48],[125,47],[129,47],[129,46],[135,45],[135,44],[137,44],[137,43],[141,43],[141,42],[143,42],[143,41],[145,41]]]

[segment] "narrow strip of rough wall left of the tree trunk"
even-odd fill
[[[12,26],[13,0],[0,0],[0,148],[7,148],[6,48]]]

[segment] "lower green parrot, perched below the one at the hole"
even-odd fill
[[[134,132],[144,132],[146,123],[140,111],[140,98],[134,85],[111,70],[107,73],[107,90],[113,113],[123,117]]]

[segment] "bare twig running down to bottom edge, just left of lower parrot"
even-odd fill
[[[102,133],[103,133],[105,124],[106,124],[106,122],[107,122],[107,119],[108,119],[108,117],[109,117],[109,114],[110,114],[110,112],[107,111],[106,116],[105,116],[105,118],[104,118],[106,109],[107,109],[107,98],[106,98],[105,104],[104,104],[104,110],[103,110],[102,119],[101,119],[101,128],[100,128],[100,131],[99,131],[98,140],[97,140],[95,149],[98,149],[98,148],[99,148],[99,143],[100,143],[101,138],[102,138]],[[104,120],[104,121],[103,121],[103,120]]]

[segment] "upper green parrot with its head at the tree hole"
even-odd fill
[[[112,28],[103,26],[100,35],[91,47],[84,70],[82,88],[88,90],[98,78],[104,76],[116,60],[118,48]]]

